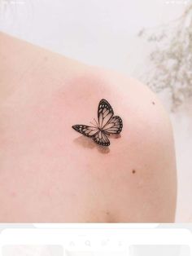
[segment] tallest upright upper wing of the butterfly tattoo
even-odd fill
[[[98,126],[103,129],[103,126],[113,117],[114,112],[111,105],[106,99],[101,99],[98,104]]]

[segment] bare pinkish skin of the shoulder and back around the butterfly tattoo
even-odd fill
[[[72,125],[107,99],[108,148]],[[114,71],[0,33],[0,222],[173,222],[172,126],[159,99]]]

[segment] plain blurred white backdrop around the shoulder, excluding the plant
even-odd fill
[[[0,0],[0,30],[86,64],[141,80],[151,45],[139,38],[177,19],[191,0]],[[169,111],[168,96],[159,94]],[[192,109],[170,113],[178,170],[177,222],[192,222]]]

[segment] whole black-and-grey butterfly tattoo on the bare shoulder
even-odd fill
[[[98,121],[93,126],[75,125],[72,128],[82,135],[94,139],[95,143],[102,146],[109,146],[108,136],[120,134],[123,128],[123,121],[120,117],[114,116],[113,109],[106,99],[101,99],[98,104]]]

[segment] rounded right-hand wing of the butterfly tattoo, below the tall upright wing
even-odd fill
[[[123,128],[123,121],[120,117],[112,117],[107,124],[103,127],[103,131],[107,134],[120,134]]]

